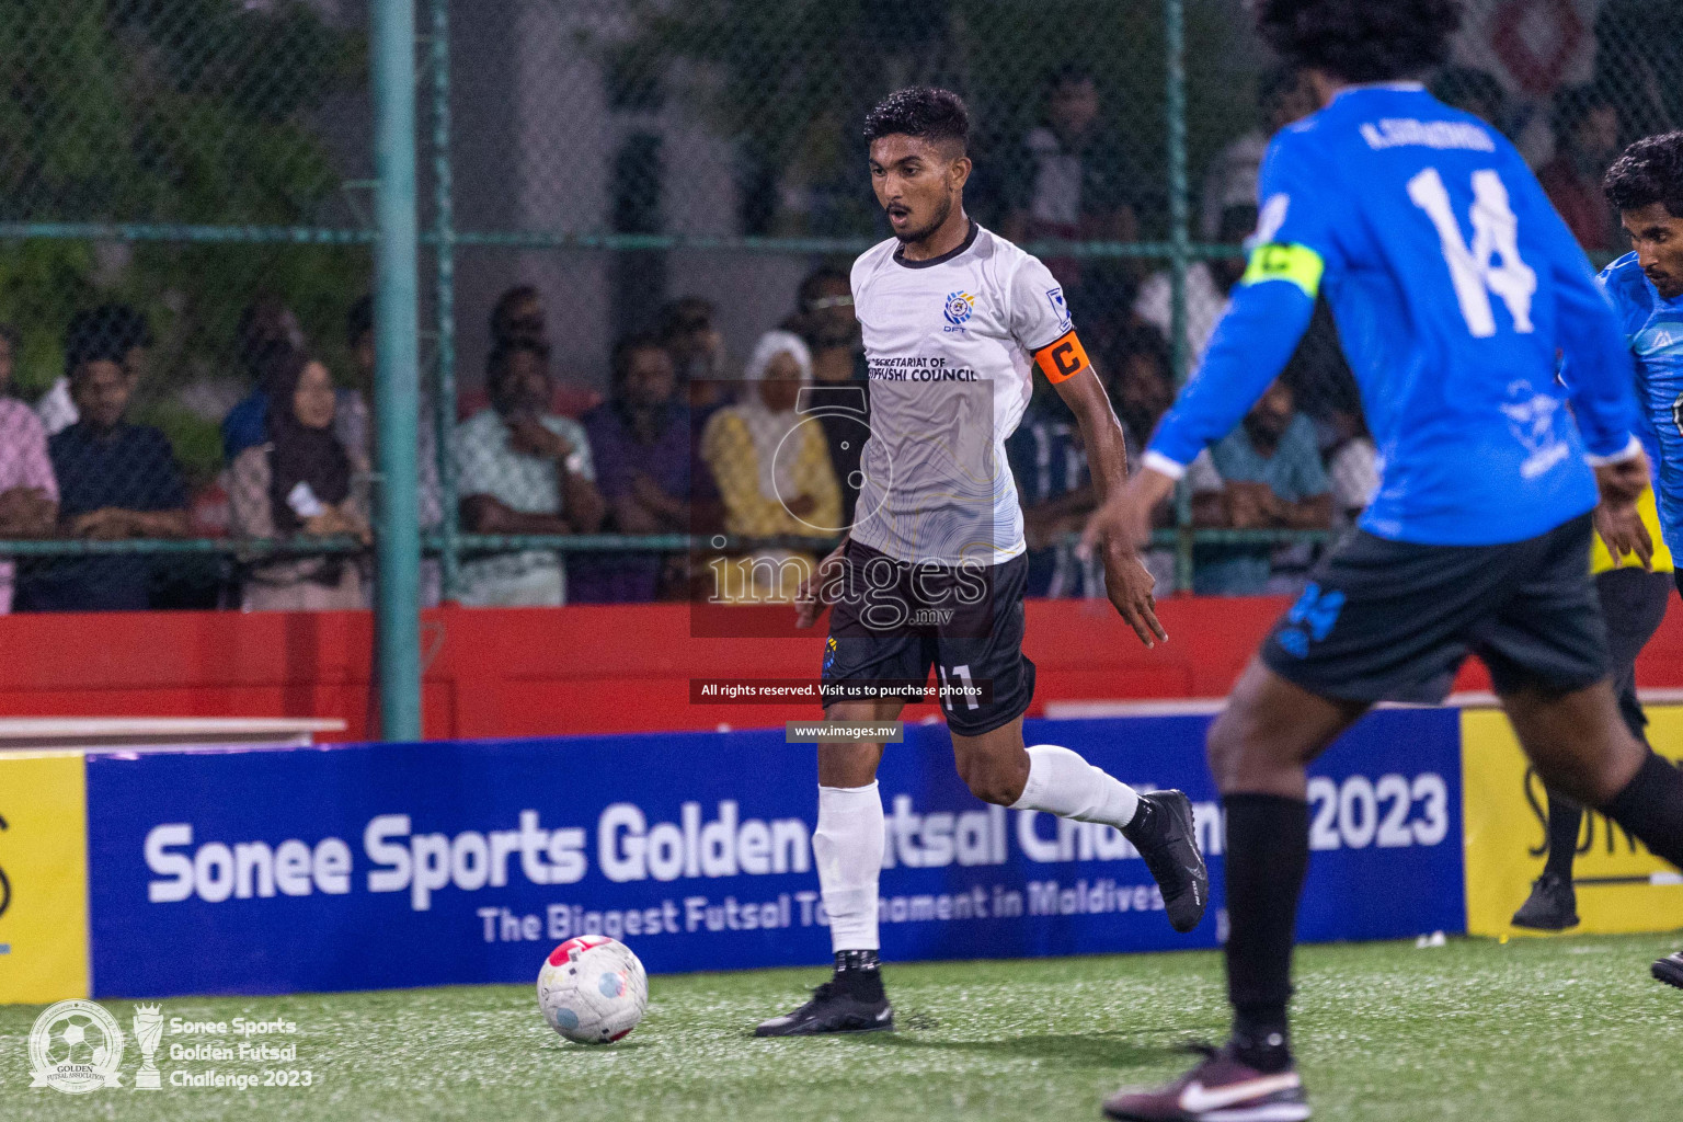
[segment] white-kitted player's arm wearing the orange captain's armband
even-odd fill
[[[1092,372],[1092,363],[1087,362],[1074,331],[1042,348],[1035,355],[1035,365],[1047,373],[1059,397],[1075,414],[1080,439],[1087,449],[1092,484],[1099,501],[1104,503],[1109,496],[1121,493],[1128,483],[1128,447],[1123,441],[1123,426],[1111,409],[1111,399]],[[1149,518],[1149,510],[1146,516]],[[1118,614],[1128,621],[1128,626],[1146,646],[1155,646],[1160,639],[1166,643],[1168,632],[1158,622],[1156,599],[1153,597],[1156,579],[1141,564],[1136,542],[1112,535],[1104,542],[1099,555],[1104,560],[1104,590]]]

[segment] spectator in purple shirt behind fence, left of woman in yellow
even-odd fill
[[[655,335],[614,345],[608,400],[584,414],[596,488],[614,533],[688,533],[690,410],[677,400],[672,355]],[[683,555],[586,553],[572,558],[572,601],[646,602],[682,585]],[[673,572],[672,580],[661,580]]]

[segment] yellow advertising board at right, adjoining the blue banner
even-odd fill
[[[1649,707],[1648,740],[1683,759],[1683,707]],[[1535,935],[1513,927],[1532,881],[1543,871],[1548,796],[1496,710],[1461,713],[1466,816],[1468,932]],[[1574,868],[1584,934],[1663,932],[1683,927],[1683,878],[1643,843],[1589,812]]]

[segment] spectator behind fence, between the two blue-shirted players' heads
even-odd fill
[[[1585,252],[1624,251],[1619,219],[1601,193],[1601,180],[1621,148],[1617,106],[1595,84],[1572,86],[1555,94],[1550,124],[1555,156],[1537,173],[1548,202],[1555,204]]]

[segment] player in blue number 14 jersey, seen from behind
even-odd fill
[[[1321,291],[1380,488],[1210,730],[1234,1029],[1185,1077],[1104,1103],[1141,1122],[1309,1117],[1286,1016],[1304,767],[1380,700],[1441,700],[1468,654],[1545,782],[1683,866],[1683,772],[1619,718],[1589,580],[1590,511],[1622,555],[1648,486],[1631,353],[1589,261],[1513,146],[1409,81],[1447,59],[1457,3],[1262,0],[1257,24],[1325,108],[1269,146],[1250,266],[1087,542],[1144,540],[1187,464],[1279,375]]]

